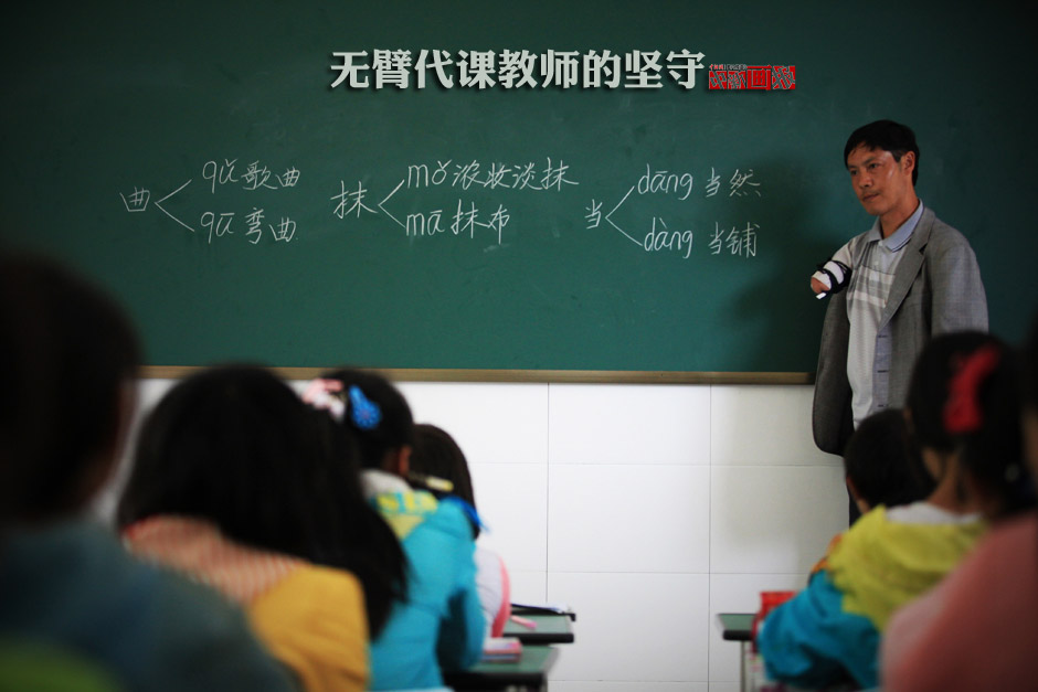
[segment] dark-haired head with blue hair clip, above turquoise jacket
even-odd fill
[[[356,440],[363,468],[382,468],[385,456],[414,444],[414,418],[403,394],[373,372],[342,369],[322,376],[342,385],[341,425]]]

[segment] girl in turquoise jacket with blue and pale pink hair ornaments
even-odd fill
[[[371,643],[371,689],[436,688],[441,670],[476,663],[485,622],[476,592],[473,530],[463,503],[404,480],[414,444],[407,402],[383,377],[340,370],[314,381],[304,401],[327,408],[357,440],[364,494],[410,562],[407,598]]]

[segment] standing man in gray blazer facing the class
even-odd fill
[[[934,334],[987,331],[973,248],[915,195],[912,130],[890,120],[858,128],[844,162],[876,222],[841,251],[850,278],[822,329],[812,428],[818,448],[836,455],[867,415],[904,404],[915,356]]]

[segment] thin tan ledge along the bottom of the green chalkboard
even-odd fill
[[[188,365],[148,365],[145,379],[179,380],[200,370]],[[285,380],[313,380],[330,368],[272,368]],[[682,372],[640,370],[449,370],[371,369],[394,382],[528,382],[590,384],[812,384],[808,372]]]

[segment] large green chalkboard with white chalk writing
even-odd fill
[[[843,145],[890,117],[1017,339],[1036,95],[1010,7],[35,3],[0,29],[0,233],[114,290],[152,365],[809,372],[807,278],[871,223]],[[377,88],[375,51],[454,82]],[[506,51],[536,84],[479,88]],[[618,86],[560,82],[605,51]],[[681,51],[692,88],[626,62]],[[795,88],[711,89],[712,65]]]

